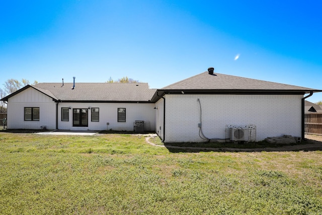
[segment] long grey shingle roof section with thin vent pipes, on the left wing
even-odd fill
[[[8,101],[11,96],[32,87],[54,100],[61,101],[110,101],[110,102],[149,102],[155,89],[149,89],[147,83],[39,83],[35,86],[26,86],[2,100]]]

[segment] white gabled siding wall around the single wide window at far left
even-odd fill
[[[25,121],[24,108],[39,107],[39,121]],[[9,98],[7,109],[8,129],[55,129],[55,102],[47,95],[28,88]]]

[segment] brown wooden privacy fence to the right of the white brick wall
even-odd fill
[[[305,114],[304,131],[307,134],[322,135],[322,113]]]

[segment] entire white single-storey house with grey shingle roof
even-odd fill
[[[8,102],[9,129],[133,131],[135,121],[144,121],[144,129],[164,142],[249,140],[250,133],[255,141],[304,137],[304,94],[320,90],[213,70],[162,89],[146,83],[40,83],[2,101]]]

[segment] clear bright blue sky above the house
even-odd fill
[[[212,66],[322,90],[321,10],[320,0],[2,1],[0,87],[127,76],[162,88]]]

